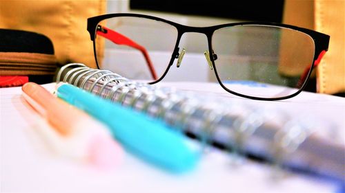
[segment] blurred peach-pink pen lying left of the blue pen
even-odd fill
[[[105,125],[55,98],[39,84],[28,82],[22,90],[26,101],[55,128],[59,136],[53,137],[48,130],[43,133],[59,152],[87,160],[99,168],[114,167],[121,161],[123,150]]]

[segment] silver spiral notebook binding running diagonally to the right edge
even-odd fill
[[[61,81],[160,118],[205,146],[345,181],[344,144],[319,137],[314,121],[305,122],[284,109],[157,87],[77,63],[59,70]]]

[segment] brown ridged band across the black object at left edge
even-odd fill
[[[0,76],[54,75],[57,58],[51,54],[0,52]]]

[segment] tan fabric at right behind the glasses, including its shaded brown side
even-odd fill
[[[319,93],[345,92],[344,13],[344,0],[285,0],[284,23],[331,36],[328,52],[317,67]]]

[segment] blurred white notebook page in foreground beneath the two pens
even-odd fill
[[[45,84],[52,90],[55,84]],[[195,171],[170,174],[127,154],[112,171],[55,155],[35,132],[42,119],[21,87],[0,89],[1,192],[335,192],[332,183],[297,174],[272,179],[273,168],[208,149]],[[50,128],[48,124],[43,126]]]

